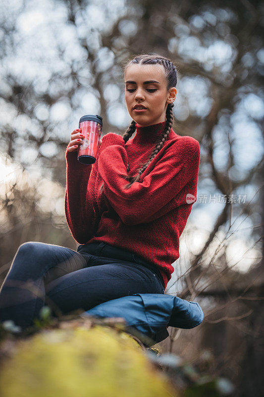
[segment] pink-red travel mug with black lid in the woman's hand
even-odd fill
[[[98,146],[103,127],[103,118],[98,115],[86,115],[80,118],[84,139],[78,147],[78,160],[82,164],[94,164],[98,157]]]

